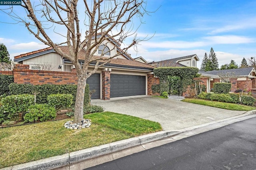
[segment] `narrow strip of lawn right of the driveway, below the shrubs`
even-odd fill
[[[204,106],[218,107],[218,108],[228,109],[228,110],[250,111],[250,110],[256,109],[256,107],[252,107],[252,106],[245,106],[245,105],[233,104],[233,103],[223,103],[223,102],[216,102],[216,101],[202,100],[202,99],[186,98],[182,101],[188,102],[188,103],[200,104]]]

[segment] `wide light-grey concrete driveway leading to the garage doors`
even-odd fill
[[[105,107],[105,111],[159,122],[166,131],[182,131],[184,128],[246,113],[153,96],[120,97],[106,101],[97,99],[91,103]]]

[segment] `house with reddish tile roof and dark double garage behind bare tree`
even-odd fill
[[[108,48],[113,45],[112,43],[116,42],[111,39],[109,42],[105,43],[106,48]],[[97,57],[99,57],[102,52],[105,53],[105,45],[103,45],[103,48],[101,48],[101,46],[99,47],[98,51],[93,56],[95,59],[97,59]],[[59,46],[58,48],[62,52],[69,55],[69,50],[67,46]],[[104,57],[111,57],[117,54],[118,51],[120,51],[119,46],[115,47],[115,50],[112,50],[109,53],[105,53]],[[85,50],[80,51],[80,53],[78,54],[78,59],[81,65],[84,64],[84,56]],[[51,47],[15,56],[14,61],[18,62],[19,64],[29,65],[29,69],[33,70],[34,72],[35,70],[40,70],[38,72],[43,72],[42,66],[46,65],[50,65],[52,70],[44,72],[51,72],[51,74],[59,74],[59,72],[64,72],[63,74],[68,74],[66,72],[75,71],[73,64],[67,59],[64,59],[62,56],[58,55]],[[90,63],[88,69],[89,72],[92,71],[94,65],[95,63]],[[109,100],[113,97],[152,95],[151,84],[154,83],[154,68],[154,66],[151,66],[149,64],[134,61],[134,59],[132,59],[130,55],[126,53],[115,57],[111,59],[110,63],[101,66],[95,74],[87,79],[90,90],[96,90],[96,92],[92,96],[92,99],[101,98],[104,100]],[[59,80],[59,82],[60,81],[62,80]],[[44,82],[44,80],[41,80],[41,82],[32,82],[30,84],[43,83],[46,82]],[[52,83],[48,82],[48,84]]]

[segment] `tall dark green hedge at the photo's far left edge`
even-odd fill
[[[9,85],[14,82],[14,76],[0,74],[0,96],[10,95]]]

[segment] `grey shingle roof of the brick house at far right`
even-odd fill
[[[228,70],[212,70],[212,71],[206,71],[206,74],[226,74],[226,73],[232,73],[234,76],[249,76],[252,72],[253,67],[246,67],[246,68],[234,68],[234,69],[228,69]]]

